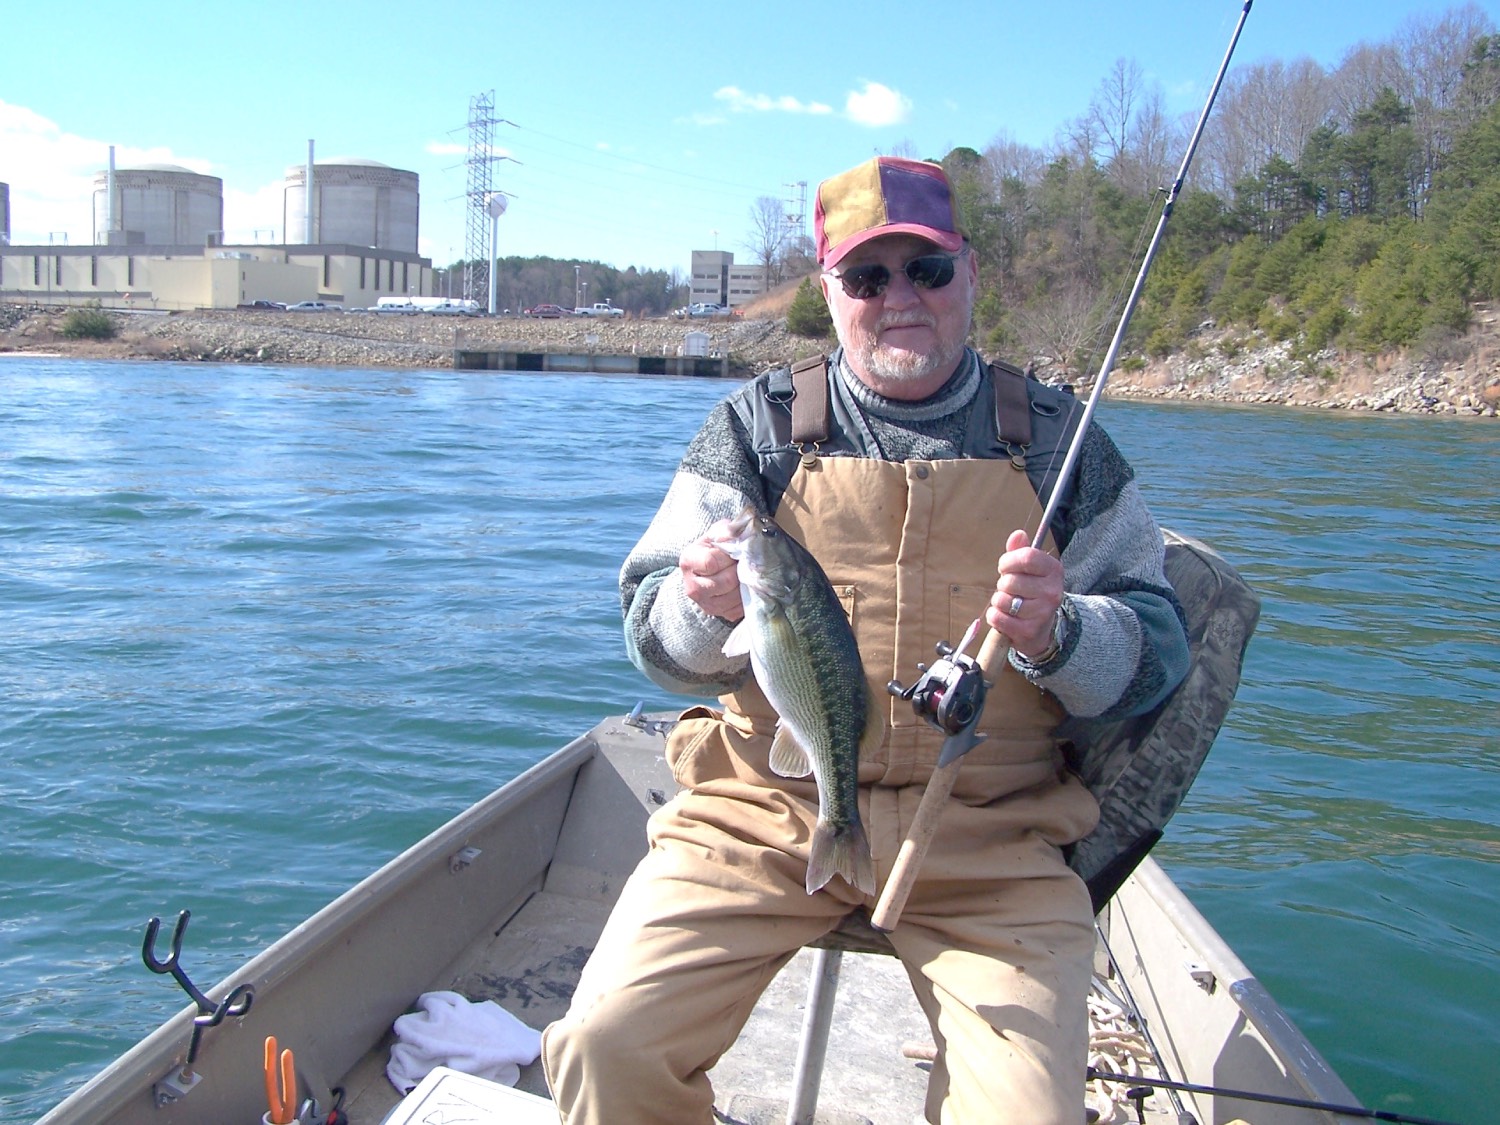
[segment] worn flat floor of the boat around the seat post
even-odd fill
[[[471,1000],[495,1000],[542,1029],[562,1016],[608,908],[537,892],[488,944],[471,951],[434,988]],[[588,945],[580,945],[585,936]],[[716,1118],[724,1125],[786,1120],[802,1029],[813,950],[802,950],[765,990],[734,1048],[710,1077]],[[400,1101],[384,1066],[394,1036],[387,1032],[345,1077],[351,1125],[380,1125]],[[932,1044],[932,1030],[896,957],[846,952],[819,1092],[818,1125],[910,1125],[920,1120],[930,1064],[903,1053]],[[525,1066],[519,1089],[548,1096],[542,1064]],[[1167,1120],[1146,1104],[1148,1122]],[[1134,1108],[1130,1119],[1134,1120]]]

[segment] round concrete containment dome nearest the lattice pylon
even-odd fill
[[[417,252],[417,174],[378,160],[336,156],[312,166],[312,232],[306,230],[306,165],[286,170],[288,243],[346,243]]]

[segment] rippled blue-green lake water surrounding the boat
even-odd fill
[[[603,716],[729,384],[0,358],[0,1120]],[[1500,428],[1106,404],[1263,594],[1158,856],[1374,1108],[1500,1102]]]

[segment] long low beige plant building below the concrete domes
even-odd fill
[[[369,246],[0,246],[0,302],[232,309],[321,300],[346,309],[432,296],[432,261]]]

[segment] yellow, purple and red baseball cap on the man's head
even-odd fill
[[[942,165],[900,156],[876,156],[818,184],[813,226],[825,270],[884,234],[915,234],[950,254],[969,237]]]

